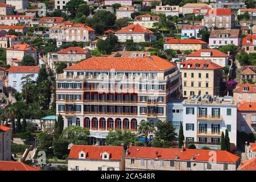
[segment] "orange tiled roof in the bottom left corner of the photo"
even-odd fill
[[[39,168],[34,168],[22,162],[0,161],[0,171],[40,171]]]

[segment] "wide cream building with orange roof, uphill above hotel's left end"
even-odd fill
[[[62,23],[49,28],[49,38],[56,39],[57,47],[62,44],[76,42],[90,42],[96,38],[95,30],[85,24]]]

